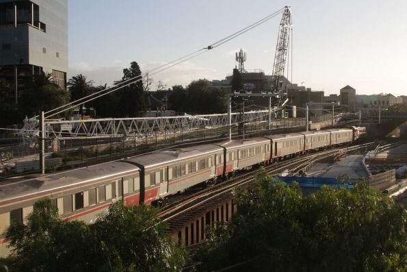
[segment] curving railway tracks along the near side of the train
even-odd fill
[[[264,166],[263,169],[271,175],[281,173],[285,170],[289,173],[296,173],[298,169],[301,169],[310,162],[315,162],[331,156],[338,156],[338,154],[362,149],[369,145],[371,145],[371,143],[309,153],[298,158],[291,158],[274,164],[269,164]],[[198,190],[197,192],[191,191],[186,195],[179,195],[174,201],[171,201],[168,205],[163,206],[161,210],[159,210],[159,217],[162,221],[168,223],[168,231],[171,232],[197,215],[202,214],[209,208],[216,206],[218,203],[231,199],[233,197],[233,191],[237,186],[250,186],[250,184],[254,182],[255,173],[257,173],[257,169],[246,171],[246,173],[242,173],[237,177],[233,177],[220,184],[215,184],[209,188]]]

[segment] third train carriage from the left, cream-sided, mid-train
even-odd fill
[[[218,145],[225,149],[225,175],[270,160],[270,140],[266,138],[230,140]]]

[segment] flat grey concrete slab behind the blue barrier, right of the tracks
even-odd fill
[[[319,163],[306,172],[307,177],[336,178],[347,174],[353,179],[369,177],[369,171],[363,162],[363,155],[350,155],[341,158],[336,164]]]

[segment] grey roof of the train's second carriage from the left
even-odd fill
[[[193,147],[155,151],[128,158],[126,161],[137,165],[142,165],[144,167],[153,167],[168,162],[176,162],[222,150],[222,147],[219,147],[218,145],[196,145]]]

